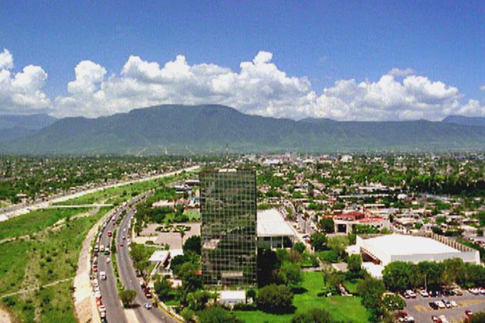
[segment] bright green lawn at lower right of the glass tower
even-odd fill
[[[295,313],[319,307],[326,309],[335,319],[351,322],[368,322],[368,312],[359,297],[319,297],[324,287],[321,272],[303,272],[303,284],[307,292],[294,296]],[[267,314],[261,311],[235,311],[245,322],[289,322],[294,314]]]

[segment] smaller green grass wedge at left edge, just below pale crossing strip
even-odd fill
[[[49,208],[16,216],[8,221],[0,222],[0,240],[36,233],[52,226],[61,218],[75,216],[82,211],[87,211],[87,208]]]

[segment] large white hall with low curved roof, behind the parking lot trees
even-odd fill
[[[480,264],[478,250],[440,235],[430,236],[391,234],[369,239],[357,236],[356,245],[348,248],[348,253],[361,253],[363,268],[374,277],[382,277],[385,265],[393,261],[420,263],[461,258],[466,263]]]

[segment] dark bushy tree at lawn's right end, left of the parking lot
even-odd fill
[[[382,295],[385,292],[385,285],[382,280],[372,277],[359,282],[357,285],[358,295],[361,296],[361,302],[364,307],[371,311],[371,320],[378,322],[383,316],[384,310],[382,305]]]

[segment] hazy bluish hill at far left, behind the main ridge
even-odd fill
[[[0,142],[32,135],[55,120],[50,115],[0,115]]]

